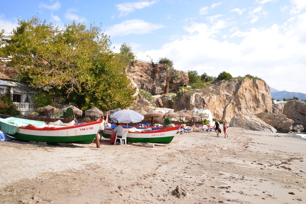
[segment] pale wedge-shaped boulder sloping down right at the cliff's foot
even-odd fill
[[[277,130],[269,124],[266,124],[263,120],[256,117],[249,110],[240,111],[230,122],[232,127],[242,127],[251,131],[262,131],[276,133]]]

